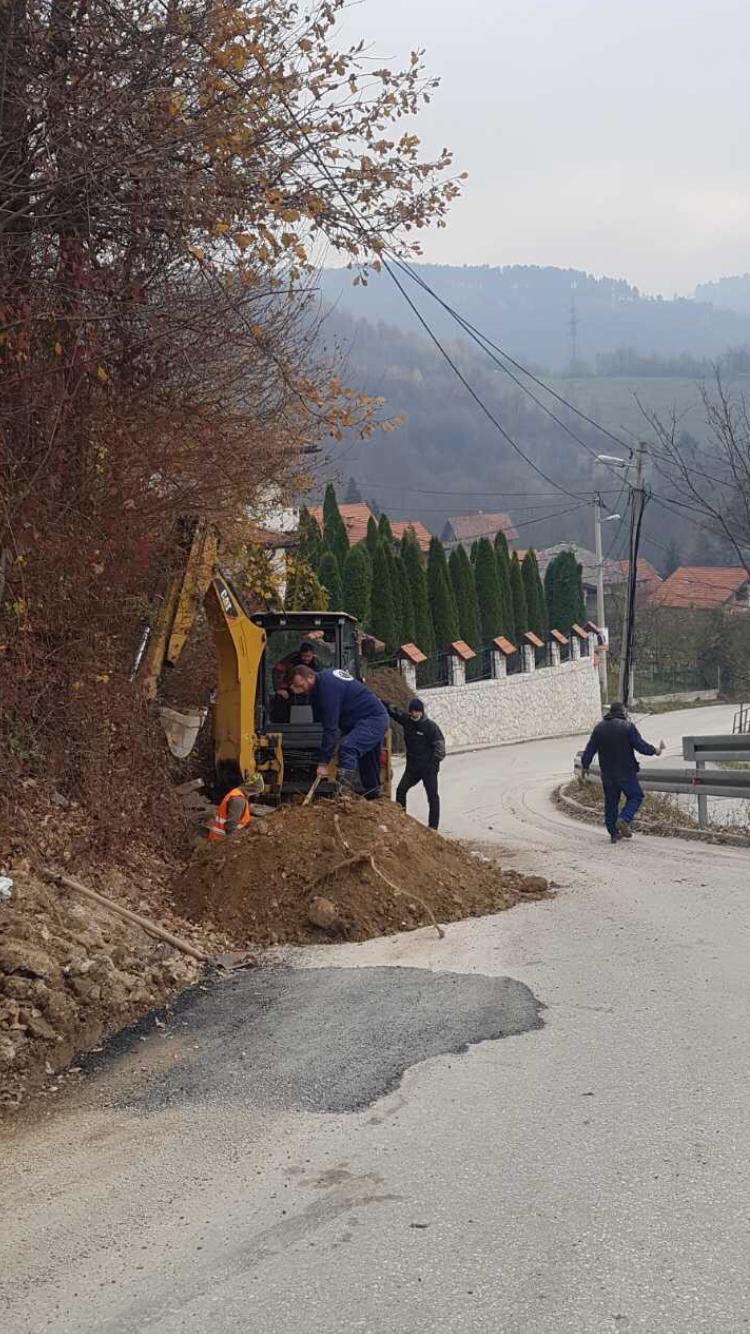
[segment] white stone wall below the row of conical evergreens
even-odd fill
[[[448,751],[573,736],[590,731],[602,716],[599,678],[590,658],[419,694],[443,730]]]

